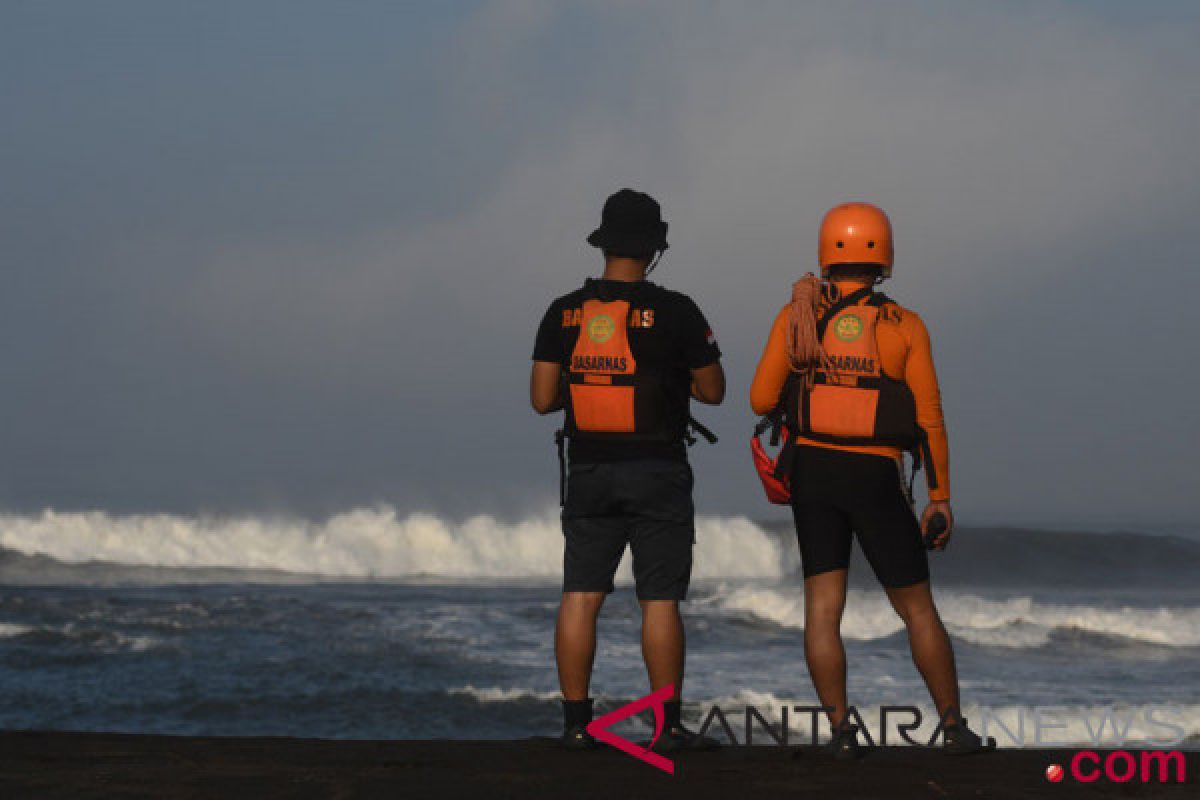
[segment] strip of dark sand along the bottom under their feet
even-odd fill
[[[1050,783],[1073,751],[948,758],[888,748],[842,764],[818,751],[727,747],[676,757],[668,776],[613,750],[552,740],[329,741],[0,733],[10,798],[1198,798],[1187,784]]]

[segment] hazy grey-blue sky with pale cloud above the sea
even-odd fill
[[[866,199],[960,515],[1190,523],[1198,38],[1193,4],[7,2],[0,505],[545,509],[533,331],[629,185],[726,354],[702,511],[769,513],[750,375]]]

